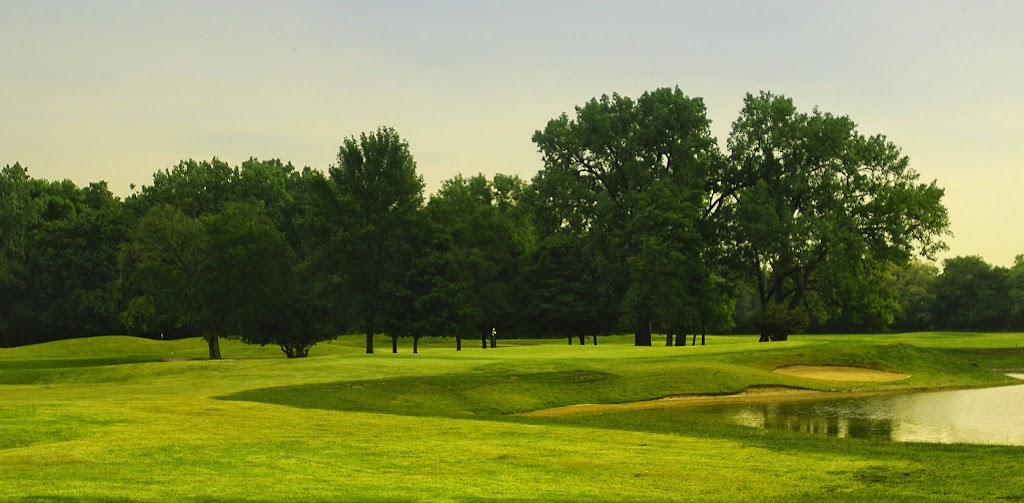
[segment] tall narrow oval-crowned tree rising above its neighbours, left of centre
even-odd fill
[[[385,306],[400,291],[416,255],[423,178],[409,143],[388,127],[345,138],[329,173],[333,233],[327,255],[366,333],[367,353],[373,353],[374,336],[386,325]]]

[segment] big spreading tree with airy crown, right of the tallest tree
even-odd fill
[[[888,265],[945,247],[943,190],[919,182],[895,144],[860,134],[848,117],[748,94],[728,143],[724,216],[737,264],[757,285],[762,341],[835,315],[849,295],[881,293]]]

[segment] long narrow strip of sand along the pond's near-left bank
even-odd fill
[[[797,389],[782,386],[752,387],[734,394],[683,394],[644,402],[629,402],[626,404],[579,404],[574,406],[556,407],[520,414],[531,417],[557,417],[568,414],[593,414],[601,412],[637,411],[644,409],[669,409],[676,407],[707,406],[716,404],[734,404],[743,402],[761,402],[772,399],[814,399],[827,391],[813,389]]]

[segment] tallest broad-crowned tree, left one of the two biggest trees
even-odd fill
[[[722,158],[703,101],[678,88],[645,92],[635,101],[603,95],[578,107],[574,119],[562,114],[551,120],[534,141],[544,160],[534,181],[539,226],[591,235],[606,256],[604,263],[614,264],[605,277],[623,299],[623,320],[635,333],[635,344],[650,345],[656,319],[675,316],[671,311],[692,297],[687,291],[672,305],[655,303],[657,291],[693,285],[652,284],[650,262],[662,260],[660,251],[675,249],[680,240],[701,241],[694,219],[709,217],[715,206],[710,175]],[[657,211],[681,213],[664,219],[666,224],[644,221],[652,205],[670,201],[671,210]],[[683,229],[669,223],[683,220],[692,224]],[[673,268],[681,279],[684,270],[699,269],[699,261],[692,253],[679,253],[659,266]]]

